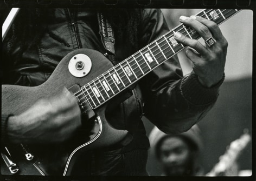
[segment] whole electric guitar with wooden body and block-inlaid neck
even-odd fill
[[[237,12],[236,9],[205,9],[197,16],[221,24]],[[81,112],[91,125],[90,130],[78,133],[72,145],[50,145],[46,149],[49,145],[21,144],[7,148],[2,157],[9,169],[14,168],[12,171],[17,175],[72,175],[73,165],[85,151],[127,144],[131,135],[107,122],[106,106],[120,92],[184,49],[174,39],[177,31],[189,38],[200,38],[199,33],[180,24],[115,66],[96,50],[78,49],[68,53],[52,76],[39,86],[2,85],[2,114],[18,115],[49,93],[57,95],[65,86],[78,98]],[[1,173],[10,174],[1,165]]]

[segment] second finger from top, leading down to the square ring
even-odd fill
[[[192,17],[195,17],[195,16],[192,16]],[[197,21],[194,18],[181,16],[180,21],[184,25],[188,25],[191,28],[193,28],[196,32],[198,32],[199,35],[204,39],[204,41],[206,41],[209,37],[213,36],[206,25],[202,24],[201,22]]]

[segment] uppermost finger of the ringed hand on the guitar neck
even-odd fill
[[[208,27],[208,29],[210,30],[210,32],[212,32],[213,37],[217,40],[221,40],[223,39],[223,35],[222,32],[219,28],[219,26],[213,22],[210,21],[208,19],[202,18],[200,16],[191,16],[192,19],[196,19],[196,21],[201,22],[202,24],[206,25]]]

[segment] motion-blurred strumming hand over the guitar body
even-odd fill
[[[65,88],[60,95],[40,99],[20,115],[9,117],[7,132],[14,143],[58,143],[80,126],[78,100]]]

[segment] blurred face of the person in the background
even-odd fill
[[[191,151],[178,137],[166,138],[160,146],[160,162],[167,176],[187,175],[191,168]]]

